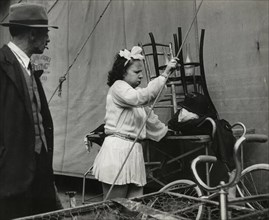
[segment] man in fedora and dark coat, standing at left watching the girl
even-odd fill
[[[49,43],[46,9],[10,7],[11,41],[0,49],[0,219],[61,208],[53,179],[53,123],[30,57]],[[39,75],[40,76],[40,75]]]

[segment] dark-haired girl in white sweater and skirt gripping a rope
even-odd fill
[[[110,89],[106,98],[105,115],[107,136],[93,165],[93,175],[102,182],[104,198],[146,120],[149,112],[147,105],[154,101],[166,78],[177,66],[177,58],[172,59],[159,77],[152,80],[146,88],[139,88],[143,78],[144,57],[141,52],[142,49],[138,46],[134,46],[131,51],[121,50],[108,73],[107,84]],[[143,195],[146,172],[141,141],[145,138],[159,141],[167,130],[167,126],[151,112],[115,181],[109,199]]]

